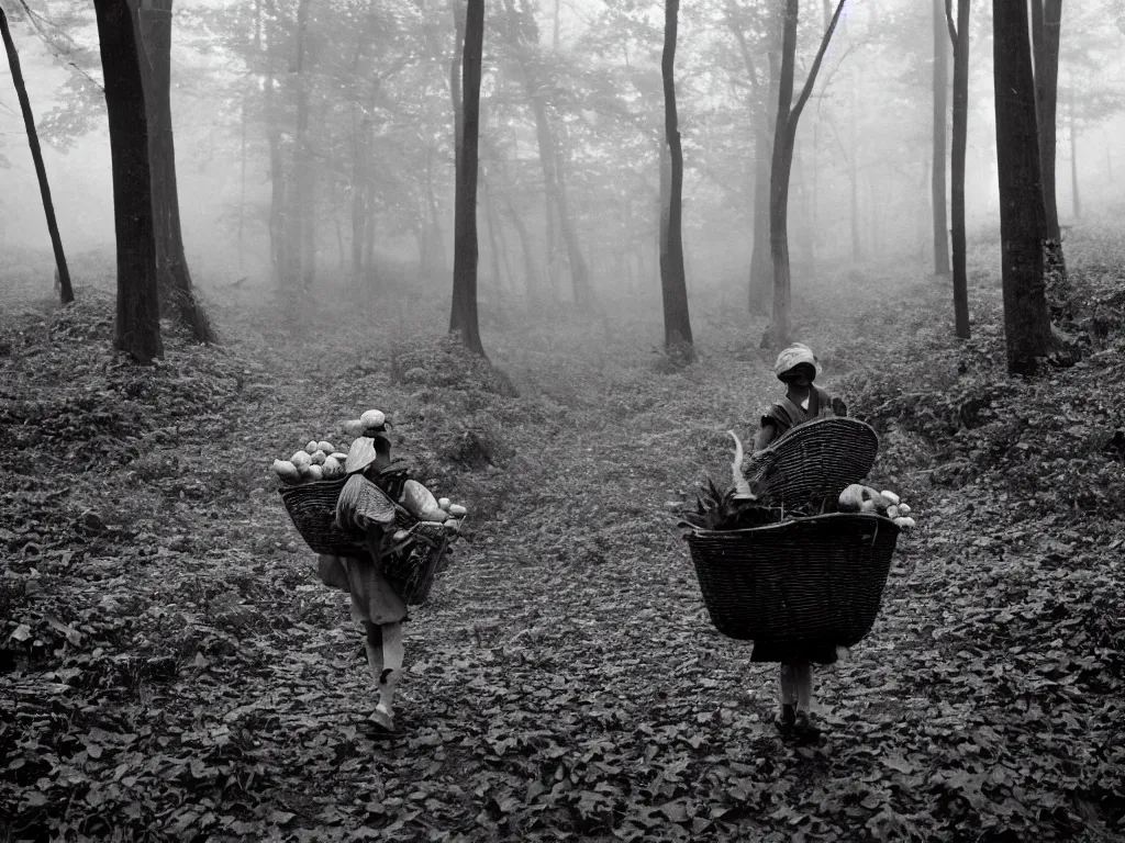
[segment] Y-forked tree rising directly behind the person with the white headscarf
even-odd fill
[[[793,170],[793,145],[796,125],[801,118],[812,87],[816,84],[825,51],[839,21],[846,0],[839,0],[828,28],[820,39],[817,57],[812,61],[809,78],[801,96],[793,105],[793,74],[796,64],[796,24],[800,0],[785,0],[785,19],[782,29],[781,81],[777,93],[777,120],[774,130],[773,163],[770,175],[770,251],[774,268],[774,306],[772,338],[776,346],[789,342],[790,335],[790,268],[789,268],[789,178]]]

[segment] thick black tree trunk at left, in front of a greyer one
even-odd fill
[[[117,239],[115,346],[140,363],[162,357],[152,224],[148,124],[134,16],[126,0],[94,0],[112,158]]]

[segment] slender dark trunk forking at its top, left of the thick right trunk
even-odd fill
[[[969,140],[969,2],[957,0],[957,20],[953,20],[953,0],[945,0],[945,18],[953,42],[953,149],[951,187],[953,192],[953,323],[958,338],[970,338],[969,277],[965,266],[965,153]]]

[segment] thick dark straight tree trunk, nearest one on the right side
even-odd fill
[[[1008,371],[1027,373],[1053,347],[1043,278],[1046,224],[1027,6],[992,0],[996,136]]]

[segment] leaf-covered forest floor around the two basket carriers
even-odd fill
[[[783,742],[776,665],[710,625],[669,501],[726,480],[778,384],[764,324],[213,297],[226,337],[115,356],[112,301],[0,302],[0,840],[1125,839],[1125,244],[1068,243],[1082,362],[1004,373],[947,282],[854,269],[799,303],[824,383],[915,508],[872,634]],[[42,297],[39,297],[42,299]],[[397,321],[396,321],[397,319]],[[412,610],[398,731],[270,463],[370,407],[470,510]]]

